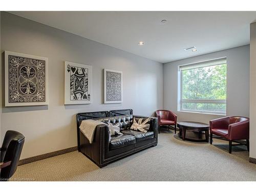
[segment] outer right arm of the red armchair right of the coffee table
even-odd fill
[[[230,140],[249,139],[249,120],[230,124],[228,137]]]

